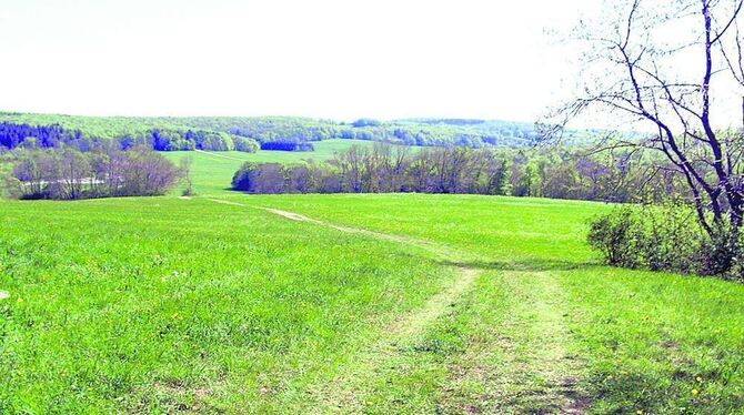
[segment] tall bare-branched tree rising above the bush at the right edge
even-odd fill
[[[559,112],[563,122],[600,111],[645,125],[647,138],[615,139],[605,149],[663,154],[684,178],[708,233],[743,223],[742,130],[731,128],[726,113],[738,108],[744,123],[743,1],[615,3],[604,24],[583,24],[583,97]],[[740,97],[731,93],[736,85]]]

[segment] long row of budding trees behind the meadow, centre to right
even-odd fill
[[[472,193],[629,202],[682,193],[681,178],[633,154],[353,146],[325,163],[247,163],[233,188],[251,193]],[[650,180],[650,174],[656,180]]]

